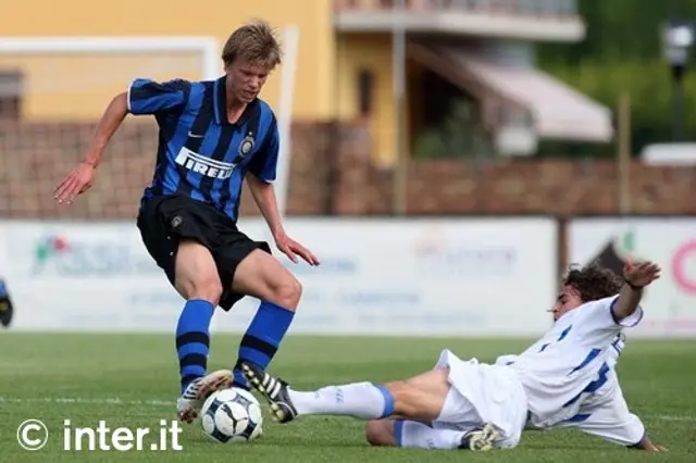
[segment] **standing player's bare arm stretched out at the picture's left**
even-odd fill
[[[70,174],[60,183],[54,191],[58,202],[71,203],[75,197],[87,191],[95,179],[95,168],[101,162],[104,148],[116,133],[123,120],[128,114],[127,95],[119,93],[111,100],[92,138],[92,141],[83,161],[77,164]]]

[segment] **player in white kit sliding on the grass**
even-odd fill
[[[626,264],[623,281],[589,265],[566,276],[554,326],[510,364],[463,361],[444,350],[434,370],[374,385],[291,389],[252,364],[245,375],[275,418],[345,415],[369,421],[373,445],[435,449],[513,448],[524,428],[576,426],[627,447],[660,450],[629,411],[613,365],[624,327],[643,317],[643,288],[659,278],[651,262]]]

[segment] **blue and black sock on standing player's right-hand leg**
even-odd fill
[[[269,366],[294,316],[295,312],[273,302],[261,302],[239,343],[239,358],[234,367],[235,386],[246,387],[247,385],[239,367],[240,362],[253,363],[263,370]]]

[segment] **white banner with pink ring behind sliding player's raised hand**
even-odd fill
[[[647,290],[642,336],[696,335],[696,218],[583,218],[569,227],[569,259],[598,260],[621,274],[627,258],[652,260],[661,278]]]

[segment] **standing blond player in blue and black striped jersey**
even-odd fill
[[[208,395],[233,381],[226,370],[207,374],[215,308],[229,311],[245,296],[260,300],[237,358],[266,367],[302,292],[266,242],[237,228],[245,180],[278,250],[294,262],[299,256],[319,264],[312,252],[286,235],[273,189],[278,128],[273,111],[259,98],[281,63],[273,29],[263,21],[239,27],[223,47],[222,61],[225,75],[215,80],[133,82],[113,98],[84,160],[55,189],[55,199],[66,203],[87,191],[104,148],[126,115],[154,116],[160,128],[157,162],[140,200],[137,226],[153,261],[186,300],[175,346],[177,412],[189,423]],[[238,362],[234,381],[247,387]]]

